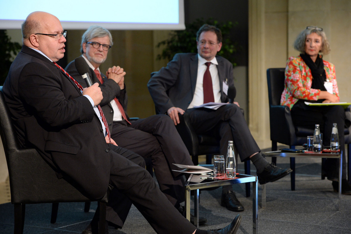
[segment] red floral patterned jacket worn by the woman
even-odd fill
[[[333,94],[339,97],[338,84],[335,77],[335,67],[332,63],[324,61],[326,78],[333,83]],[[300,56],[290,57],[286,62],[285,84],[280,105],[288,106],[290,109],[299,99],[318,100],[320,90],[311,89],[311,69]]]

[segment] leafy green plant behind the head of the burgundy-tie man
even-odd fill
[[[237,22],[232,23],[231,21],[219,22],[213,18],[207,20],[196,19],[193,23],[186,24],[185,30],[173,31],[170,34],[170,38],[163,40],[157,44],[157,48],[165,46],[161,54],[157,55],[156,59],[167,59],[171,61],[176,53],[193,52],[197,53],[196,48],[196,32],[203,24],[210,24],[218,27],[223,36],[223,46],[217,55],[228,59],[233,66],[236,66],[234,61],[234,53],[237,51],[237,43],[232,42],[230,38],[230,31],[233,26],[237,25]]]

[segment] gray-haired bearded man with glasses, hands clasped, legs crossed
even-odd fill
[[[174,164],[193,165],[189,153],[181,140],[173,121],[167,115],[153,115],[145,119],[132,121],[125,112],[127,108],[127,94],[124,84],[126,72],[119,66],[108,68],[106,75],[99,66],[105,62],[108,50],[113,45],[111,33],[100,26],[90,26],[84,32],[81,42],[81,53],[89,66],[89,76],[92,83],[99,83],[104,96],[100,105],[105,114],[111,138],[118,146],[139,154],[144,158],[151,158],[155,176],[161,191],[168,200],[183,214],[184,207],[184,178]],[[65,70],[81,86],[86,83],[70,62]],[[121,202],[119,209],[128,210],[130,202]],[[127,215],[128,213],[126,213]],[[126,217],[125,215],[125,217]],[[193,222],[193,216],[191,217]],[[207,220],[200,217],[199,224]],[[124,223],[122,219],[114,222],[118,227]]]

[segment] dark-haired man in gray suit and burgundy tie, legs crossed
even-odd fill
[[[178,114],[188,113],[197,134],[220,139],[220,154],[226,156],[228,141],[234,141],[241,161],[251,160],[260,184],[276,181],[292,170],[268,163],[260,153],[237,102],[217,110],[194,108],[208,102],[228,102],[228,87],[234,85],[233,66],[217,56],[222,46],[221,31],[203,25],[197,32],[198,53],[178,53],[147,84],[157,114],[168,114],[179,124]],[[244,210],[232,186],[222,189],[221,205],[232,211]]]

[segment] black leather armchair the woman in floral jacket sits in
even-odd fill
[[[285,68],[269,68],[267,69],[267,84],[269,97],[269,116],[270,131],[272,141],[272,151],[277,150],[277,143],[289,145],[295,148],[297,145],[303,145],[307,142],[307,136],[313,135],[314,129],[303,127],[295,127],[292,122],[290,108],[280,106],[280,97],[284,90]],[[350,115],[351,113],[347,113]],[[350,129],[345,128],[345,144],[348,145],[348,173],[350,175],[350,159],[351,159],[351,139]],[[276,158],[272,158],[272,162],[276,163]],[[290,168],[293,170],[291,175],[291,190],[295,190],[295,158],[290,158]],[[322,178],[323,175],[322,175]],[[350,178],[350,176],[349,176]]]

